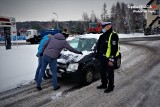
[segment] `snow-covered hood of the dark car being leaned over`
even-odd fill
[[[61,52],[61,56],[60,58],[57,60],[58,63],[63,63],[63,64],[67,64],[67,63],[73,63],[73,62],[78,62],[80,61],[82,58],[84,58],[86,55],[89,55],[90,53],[92,53],[91,51],[82,51],[83,55],[81,54],[75,54],[73,52],[70,51],[62,51]]]

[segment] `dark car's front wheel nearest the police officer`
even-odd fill
[[[85,73],[84,84],[90,84],[93,82],[93,80],[94,80],[94,70],[91,67],[89,67],[87,68]]]

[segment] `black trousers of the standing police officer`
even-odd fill
[[[114,86],[114,66],[108,65],[108,59],[106,57],[100,58],[101,62],[101,82],[102,85],[108,85],[108,87]]]

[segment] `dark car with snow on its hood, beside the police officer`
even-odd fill
[[[78,83],[89,84],[99,78],[100,62],[94,57],[99,34],[86,34],[72,39],[69,44],[83,52],[83,55],[74,54],[67,50],[61,52],[57,60],[58,77],[70,77]],[[115,68],[121,66],[121,54],[116,58]],[[50,69],[46,70],[51,76]]]

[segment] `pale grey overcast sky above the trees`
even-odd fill
[[[82,13],[92,10],[97,16],[107,4],[108,13],[117,1],[146,5],[149,0],[0,0],[0,16],[15,17],[17,21],[59,21],[81,20]]]

